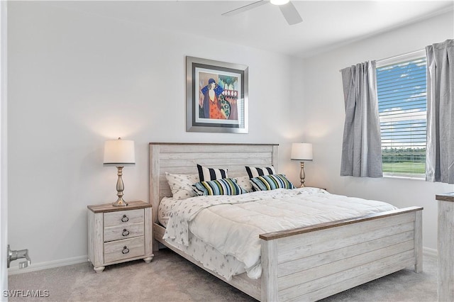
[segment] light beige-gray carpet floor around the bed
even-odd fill
[[[409,269],[323,299],[328,301],[436,301],[437,259],[424,255],[423,271]],[[170,250],[115,264],[96,274],[89,262],[9,276],[9,301],[255,301]],[[48,297],[31,298],[26,291]]]

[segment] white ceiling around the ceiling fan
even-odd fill
[[[48,4],[145,26],[309,57],[355,40],[450,11],[454,1],[298,1],[303,18],[289,26],[270,3],[221,16],[254,1],[50,1]],[[454,27],[454,24],[453,24]]]

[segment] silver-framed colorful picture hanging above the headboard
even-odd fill
[[[186,130],[248,133],[248,67],[186,57]]]

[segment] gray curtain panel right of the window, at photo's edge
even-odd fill
[[[454,40],[426,47],[426,181],[454,184]]]

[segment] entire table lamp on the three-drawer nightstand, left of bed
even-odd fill
[[[128,206],[123,200],[123,167],[135,164],[135,150],[133,140],[106,140],[104,142],[104,166],[114,166],[118,169],[118,179],[116,181],[116,191],[118,199],[112,206]]]

